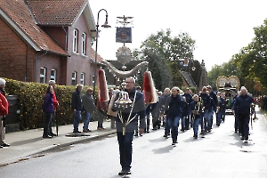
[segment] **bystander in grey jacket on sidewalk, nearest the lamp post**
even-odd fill
[[[82,104],[85,110],[85,121],[83,126],[83,132],[88,133],[91,132],[91,130],[89,130],[89,123],[91,117],[93,116],[93,110],[95,109],[92,88],[88,88],[86,90],[85,94],[82,97]]]

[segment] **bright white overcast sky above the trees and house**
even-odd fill
[[[132,51],[139,48],[148,36],[161,29],[172,35],[187,32],[196,40],[195,60],[206,63],[209,71],[239,53],[255,36],[254,27],[267,18],[267,0],[89,0],[95,23],[97,13],[109,13],[112,28],[99,28],[98,53],[104,60],[116,60],[116,52],[123,44],[116,43],[117,16],[134,17],[133,43],[125,44]],[[100,12],[100,26],[105,12]],[[95,44],[93,44],[95,49]]]

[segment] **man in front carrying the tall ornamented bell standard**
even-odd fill
[[[125,84],[125,92],[129,93],[129,99],[133,103],[127,106],[127,108],[118,107],[119,104],[116,101],[121,94],[117,93],[112,107],[113,111],[117,110],[117,142],[119,145],[120,165],[122,166],[122,170],[118,173],[119,175],[131,174],[134,129],[137,125],[138,117],[140,117],[139,134],[144,132],[146,115],[144,96],[142,93],[135,91],[134,77],[126,78]]]

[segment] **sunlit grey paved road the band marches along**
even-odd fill
[[[257,117],[247,143],[234,133],[231,115],[205,138],[194,140],[192,130],[179,132],[175,147],[162,137],[163,129],[135,137],[129,177],[266,177],[267,122]],[[0,168],[1,177],[120,177],[116,135],[39,156]]]

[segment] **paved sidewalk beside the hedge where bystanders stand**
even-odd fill
[[[79,129],[82,130],[83,123],[80,123]],[[110,128],[110,122],[104,121],[105,130],[97,130],[97,121],[90,122],[90,133],[73,134],[73,125],[59,126],[59,136],[52,139],[44,139],[43,129],[32,129],[5,134],[5,142],[10,147],[0,149],[0,166],[16,163],[20,160],[30,158],[32,155],[42,153],[43,151],[59,149],[64,146],[93,140],[109,134],[116,134],[116,129]],[[53,133],[56,133],[53,127]]]

